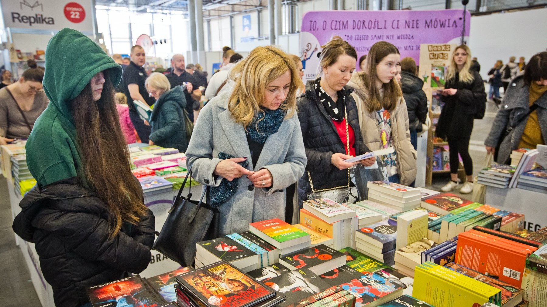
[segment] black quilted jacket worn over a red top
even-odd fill
[[[315,190],[347,185],[347,169],[339,170],[330,163],[330,158],[336,152],[344,153],[346,149],[340,136],[336,132],[333,120],[327,110],[318,101],[317,94],[312,88],[315,80],[306,83],[306,91],[296,101],[298,104],[298,119],[304,137],[304,147],[308,159],[306,172],[298,180],[298,196],[306,199],[306,193],[311,192],[310,180],[307,171],[310,171]],[[363,143],[359,129],[357,106],[350,87],[345,87],[348,125],[353,128],[356,136],[356,155],[362,155],[369,149]]]

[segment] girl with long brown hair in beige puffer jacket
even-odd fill
[[[388,42],[377,42],[366,56],[363,72],[348,83],[355,88],[363,141],[370,150],[393,147],[381,157],[385,180],[410,185],[416,178],[416,150],[410,143],[409,117],[403,92],[395,80],[400,54]]]

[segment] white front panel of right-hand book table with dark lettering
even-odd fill
[[[486,186],[486,204],[526,216],[524,228],[537,231],[547,226],[547,194],[522,188]]]

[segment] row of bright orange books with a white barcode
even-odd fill
[[[535,250],[495,235],[467,231],[458,235],[455,262],[520,287],[526,257]]]

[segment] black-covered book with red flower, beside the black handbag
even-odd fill
[[[257,253],[228,237],[196,243],[196,258],[200,259],[203,264],[217,262],[222,259],[236,265],[238,268],[243,268],[240,262],[248,267],[252,263],[258,263],[259,260]]]

